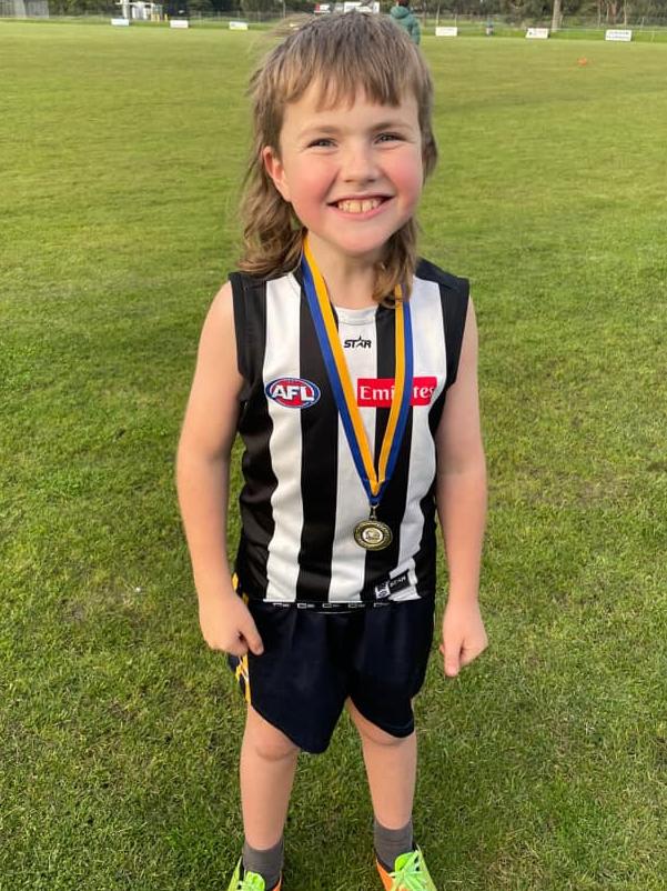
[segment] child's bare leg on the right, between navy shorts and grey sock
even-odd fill
[[[417,738],[392,737],[361,714],[351,700],[347,709],[362,740],[373,811],[386,829],[402,829],[412,818],[417,773]]]

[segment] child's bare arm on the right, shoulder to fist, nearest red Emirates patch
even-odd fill
[[[477,326],[468,304],[458,373],[436,433],[437,512],[445,539],[449,597],[441,652],[455,677],[486,648],[477,601],[486,517],[486,464],[477,396]]]

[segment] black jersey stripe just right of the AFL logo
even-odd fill
[[[320,388],[320,400],[301,412],[303,527],[296,599],[329,599],[336,527],[338,412],[305,293],[301,292],[300,374]]]

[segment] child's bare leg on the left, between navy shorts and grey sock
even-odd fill
[[[281,840],[299,749],[247,707],[241,747],[241,803],[245,841],[266,850]]]

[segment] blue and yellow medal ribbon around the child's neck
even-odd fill
[[[307,237],[303,242],[301,268],[311,316],[315,324],[315,331],[317,332],[320,349],[322,350],[326,373],[329,374],[338,414],[341,416],[343,429],[347,437],[350,451],[352,452],[356,471],[368,495],[368,503],[372,508],[375,508],[380,503],[384,488],[394,472],[401,442],[403,441],[405,427],[407,424],[413,379],[410,306],[401,299],[402,291],[398,286],[395,292],[396,362],[394,392],[392,394],[390,418],[384,432],[384,439],[382,440],[380,461],[376,471],[375,461],[368,446],[368,438],[366,437],[362,416],[356,404],[356,398],[352,388],[350,371],[347,370],[345,354],[341,346],[338,330],[329,300],[326,284],[311,253]]]

